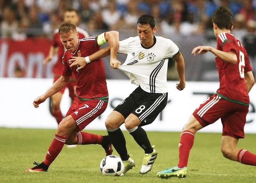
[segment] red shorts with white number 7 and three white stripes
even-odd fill
[[[107,102],[102,100],[81,101],[77,97],[70,106],[66,116],[71,115],[75,120],[79,131],[83,130],[96,117],[107,108]]]

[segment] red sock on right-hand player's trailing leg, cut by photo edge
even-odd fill
[[[256,166],[256,154],[253,154],[245,149],[240,149],[237,153],[237,161],[246,165]]]

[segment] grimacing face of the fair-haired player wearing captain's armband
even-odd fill
[[[60,34],[60,40],[68,51],[71,53],[76,51],[78,47],[78,33],[76,31]]]

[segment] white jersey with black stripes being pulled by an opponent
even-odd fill
[[[154,40],[150,48],[141,45],[139,36],[119,41],[118,53],[126,54],[127,58],[118,69],[145,92],[167,93],[168,58],[178,53],[179,48],[164,37],[154,36]]]

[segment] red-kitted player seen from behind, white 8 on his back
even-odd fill
[[[160,178],[185,177],[194,134],[219,118],[223,125],[221,151],[224,157],[246,165],[256,165],[256,154],[238,149],[238,139],[244,138],[244,125],[249,108],[249,95],[254,85],[250,61],[241,42],[231,34],[233,16],[229,9],[219,7],[213,17],[217,49],[199,46],[192,54],[212,52],[219,72],[220,87],[207,98],[183,127],[179,143],[179,162],[176,167],[157,173]]]

